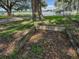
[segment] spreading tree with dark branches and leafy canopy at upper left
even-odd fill
[[[0,0],[0,7],[6,10],[8,16],[11,16],[13,7],[18,7],[18,5],[22,5],[22,2],[26,1],[27,0]]]

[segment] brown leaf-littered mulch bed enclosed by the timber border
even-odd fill
[[[71,59],[68,50],[71,44],[63,32],[39,30],[33,35],[43,34],[38,41],[29,40],[19,50],[17,58],[27,59]],[[37,36],[40,38],[40,36]],[[27,39],[27,38],[26,38]],[[35,49],[36,51],[33,51]],[[41,51],[42,50],[42,51]],[[40,52],[40,53],[39,53]]]

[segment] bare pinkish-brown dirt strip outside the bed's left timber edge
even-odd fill
[[[8,56],[8,55],[10,55],[10,54],[12,55],[12,54],[14,53],[14,50],[16,49],[16,46],[17,46],[18,42],[19,42],[20,40],[22,40],[22,39],[26,36],[27,33],[28,33],[27,30],[17,32],[17,33],[15,33],[15,34],[13,35],[15,39],[12,38],[12,41],[6,42],[6,43],[2,43],[3,46],[2,46],[1,48],[4,48],[4,49],[3,49],[2,52],[0,52],[0,54],[5,55],[5,56]],[[17,35],[18,37],[17,37],[16,35]],[[1,43],[0,43],[0,45],[1,45]],[[19,48],[18,48],[18,49],[19,49]],[[10,56],[10,57],[11,57],[11,56]],[[4,58],[4,59],[6,59],[6,58]]]

